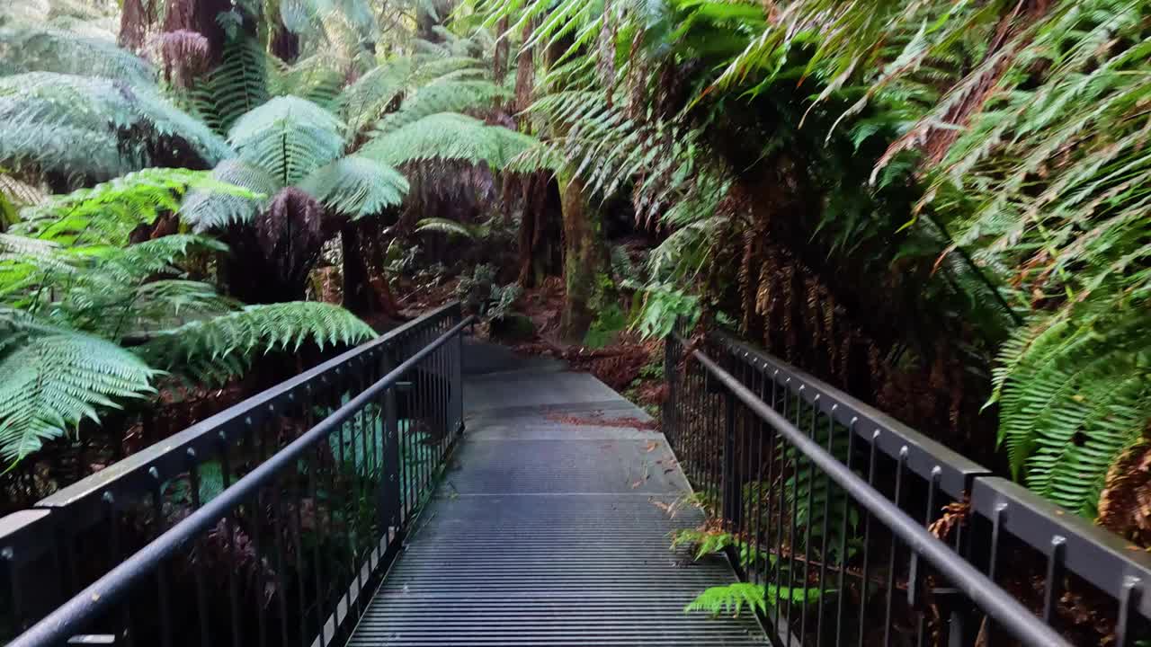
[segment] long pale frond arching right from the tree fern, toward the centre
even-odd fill
[[[456,113],[439,113],[373,137],[359,154],[399,166],[422,160],[486,162],[502,169],[535,143],[533,137]]]

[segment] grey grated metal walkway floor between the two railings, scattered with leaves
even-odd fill
[[[733,580],[668,549],[685,492],[663,435],[587,374],[470,345],[467,433],[350,645],[762,645],[755,621],[685,614]]]

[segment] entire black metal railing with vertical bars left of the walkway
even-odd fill
[[[10,645],[340,642],[463,431],[470,322],[440,309],[0,519]]]

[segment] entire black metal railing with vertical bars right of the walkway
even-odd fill
[[[731,335],[681,334],[663,431],[773,644],[1151,637],[1146,554]]]

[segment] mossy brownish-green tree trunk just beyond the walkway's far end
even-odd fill
[[[559,182],[566,288],[559,336],[566,343],[580,344],[595,320],[595,311],[608,296],[610,274],[600,214],[588,203],[584,182],[572,177],[571,169],[565,175]]]

